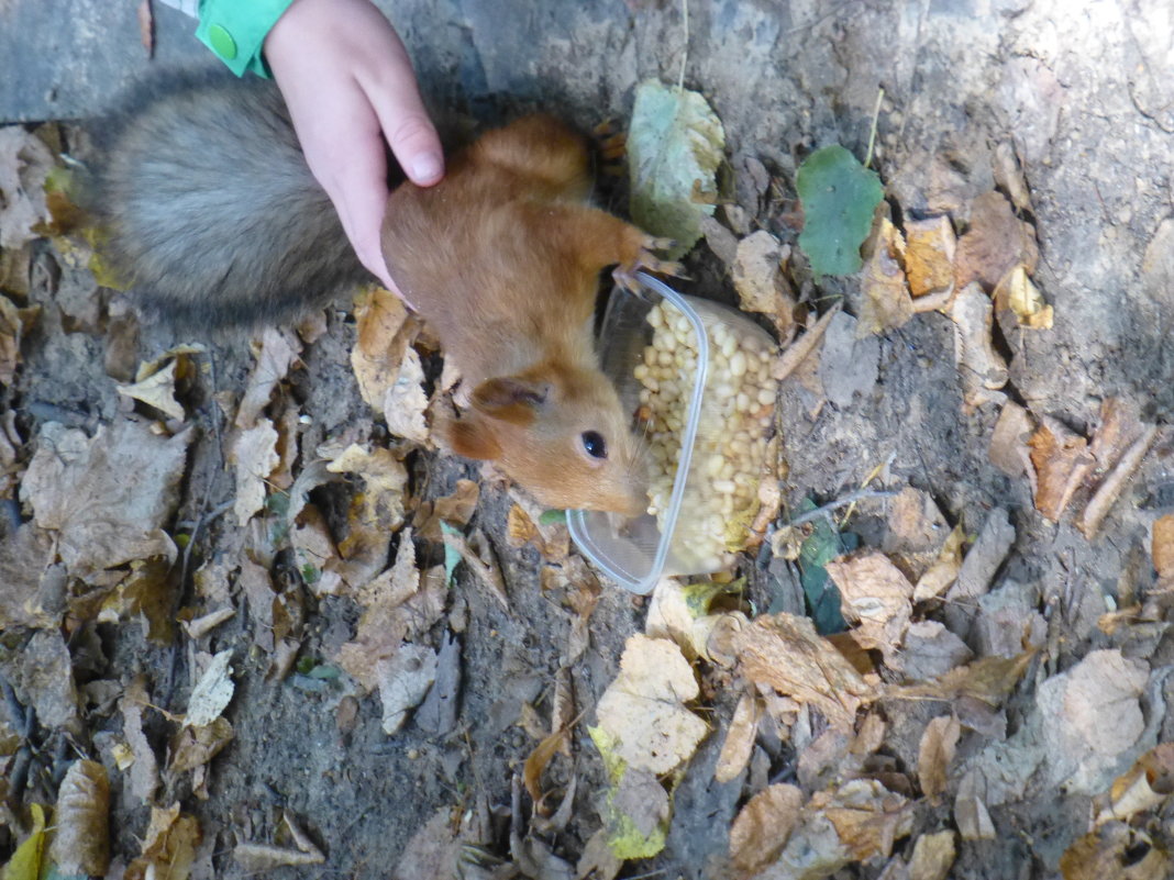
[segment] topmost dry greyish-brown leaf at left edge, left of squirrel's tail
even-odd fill
[[[45,178],[53,153],[22,126],[0,128],[0,250],[15,250],[36,238],[33,228],[52,221],[45,202]]]

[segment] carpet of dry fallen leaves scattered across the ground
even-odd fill
[[[1168,438],[1141,418],[1138,401],[1106,397],[1099,413],[1081,418],[1016,387],[1024,380],[1020,350],[998,332],[1038,331],[1046,340],[1057,314],[1033,279],[1039,246],[1026,219],[1031,196],[1011,145],[996,150],[999,190],[951,190],[950,175],[936,172],[926,184],[935,192],[904,210],[900,223],[876,211],[884,175],[842,148],[821,150],[795,182],[804,214],[796,237],[774,222],[778,217],[764,215],[750,232],[736,211],[715,214],[724,134],[700,95],[646,83],[637,110],[628,140],[634,212],[647,211],[648,228],[676,238],[682,252],[704,231],[724,253],[742,309],[761,314],[783,341],[797,336],[776,374],[802,379],[808,392],[849,408],[877,385],[882,364],[879,346],[871,357],[853,340],[889,339],[932,320],[930,312],[943,313],[954,327],[960,418],[987,420],[989,462],[1031,505],[939,510],[935,499],[950,496],[945,487],[915,490],[880,468],[893,492],[794,527],[788,521],[819,513],[818,502],[789,510],[804,495],[784,485],[768,506],[781,512],[763,523],[770,540],[758,560],[743,559],[742,574],[798,561],[799,605],[805,597],[802,610],[816,623],[767,610],[754,577],[667,580],[647,632],[630,635],[613,657],[618,675],[600,683],[595,702],[583,699],[571,670],[598,661],[593,643],[605,634],[592,621],[603,615],[614,623],[610,588],[573,551],[566,527],[532,502],[505,496],[501,505],[495,489],[479,490],[465,478],[441,490],[429,487],[421,462],[431,460],[417,451],[432,447],[430,406],[457,379],[437,370],[434,343],[399,300],[369,289],[356,303],[350,347],[357,399],[367,407],[360,419],[319,431],[319,413],[303,412],[302,395],[291,393],[329,323],[308,326],[301,339],[262,333],[239,392],[216,398],[225,417],[217,442],[235,468],[235,492],[221,513],[231,510],[239,528],[218,535],[218,562],[191,567],[201,574],[190,578],[195,595],[183,595],[194,604],[180,610],[180,631],[174,590],[185,589],[193,574],[188,548],[220,514],[194,512],[183,486],[202,461],[184,422],[207,418],[196,395],[207,350],[171,347],[144,360],[133,381],[109,384],[112,394],[133,401],[133,414],[86,431],[68,419],[39,420],[27,445],[28,422],[4,424],[0,496],[19,499],[27,520],[5,532],[0,547],[0,571],[12,573],[0,614],[6,629],[21,634],[18,648],[5,647],[0,666],[11,685],[7,702],[35,710],[39,725],[21,729],[11,749],[4,739],[5,760],[9,767],[25,760],[20,750],[29,746],[21,737],[38,730],[76,735],[101,717],[92,702],[101,693],[121,716],[116,742],[99,747],[95,738],[87,752],[101,763],[73,761],[55,791],[22,788],[27,812],[5,818],[8,874],[33,876],[49,862],[65,873],[104,873],[112,845],[121,846],[106,832],[108,811],[120,810],[110,806],[109,785],[149,807],[135,828],[140,849],[117,853],[127,876],[180,880],[195,869],[204,830],[222,832],[189,805],[216,797],[220,783],[209,767],[239,736],[225,717],[239,711],[229,663],[236,656],[245,678],[255,659],[235,655],[218,635],[237,617],[248,617],[239,624],[247,644],[274,676],[265,686],[285,682],[331,695],[339,737],[358,723],[355,706],[375,695],[382,704],[375,723],[391,743],[419,730],[457,730],[426,720],[439,711],[427,700],[444,690],[443,700],[459,705],[463,685],[453,670],[475,625],[471,609],[490,598],[499,614],[524,614],[519,560],[537,559],[542,597],[565,615],[565,632],[560,665],[541,695],[549,702],[519,704],[529,708],[527,730],[539,738],[511,780],[510,806],[495,807],[498,819],[508,818],[508,834],[493,841],[484,792],[454,796],[463,812],[446,806],[421,823],[393,875],[447,876],[461,858],[481,871],[495,865],[502,876],[561,876],[574,871],[575,859],[564,858],[573,855],[579,876],[614,876],[626,860],[666,852],[683,808],[682,780],[702,772],[707,750],[706,772],[738,791],[721,857],[737,875],[823,878],[861,862],[885,866],[886,878],[942,880],[966,871],[959,865],[973,859],[974,841],[997,839],[1040,805],[1073,793],[1092,799],[1094,810],[1089,823],[1061,830],[1048,857],[1066,880],[1165,875],[1169,841],[1156,823],[1168,807],[1174,761],[1161,742],[1165,678],[1128,641],[1143,638],[1140,617],[1122,610],[1124,625],[1106,630],[1093,650],[1087,630],[1077,628],[1072,573],[1061,590],[1048,583],[1023,589],[1016,578],[1027,576],[1025,566],[1055,576],[1026,549],[1045,521],[1060,534],[1075,530],[1073,541],[1092,542],[1120,535],[1115,516],[1140,516],[1146,546],[1136,593],[1128,595],[1147,598],[1149,622],[1165,627],[1168,602],[1159,598],[1174,590],[1174,519],[1161,505],[1139,508],[1131,486]],[[50,219],[39,187],[29,190],[27,182],[52,164],[52,151],[14,130],[5,129],[12,143],[0,158],[0,183],[16,180],[23,192],[0,211],[0,256],[9,269],[19,263],[13,242],[28,241],[34,223]],[[850,198],[828,199],[843,182]],[[898,191],[905,190],[888,195]],[[760,202],[767,211],[764,192],[765,184]],[[54,204],[54,217],[59,210],[66,217],[60,196]],[[53,235],[83,253],[67,225]],[[819,289],[804,278],[792,248],[807,256],[816,282],[859,271],[855,317],[815,307]],[[39,318],[27,291],[5,286],[12,298],[0,303],[0,377],[11,384],[27,368],[21,356]],[[96,321],[79,326],[99,332]],[[444,378],[432,381],[438,373]],[[817,400],[809,409],[812,418],[821,406]],[[479,584],[472,593],[460,588],[468,578]],[[304,625],[315,610],[305,610],[303,597],[345,603],[351,617],[329,638],[315,638]],[[1095,598],[1112,610],[1107,593]],[[87,665],[94,662],[87,645],[97,641],[95,621],[121,628],[128,618],[142,618],[144,632],[162,644],[182,644],[194,664],[208,663],[189,683],[183,716],[155,705],[183,705],[170,699],[164,681],[93,679],[97,666]],[[454,632],[465,635],[454,639]],[[311,643],[319,654],[299,657]],[[250,690],[258,681],[249,678]],[[507,722],[522,715],[519,708]],[[5,730],[16,730],[19,713],[7,716]],[[588,737],[594,750],[585,747]],[[163,744],[166,753],[156,754]],[[605,783],[588,805],[591,761],[601,765]],[[778,781],[780,771],[794,771],[784,778],[797,784]],[[191,798],[182,806],[170,799],[181,777]],[[533,801],[528,812],[520,806],[524,790]],[[46,819],[50,803],[55,826]],[[319,847],[298,817],[282,810],[266,821],[257,812],[230,820],[235,845],[218,838],[241,869],[329,864],[331,846]],[[551,839],[559,845],[552,848]],[[274,842],[255,842],[265,840]]]

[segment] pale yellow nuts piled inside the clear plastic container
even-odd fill
[[[682,569],[716,571],[740,550],[758,509],[758,481],[778,384],[775,344],[748,319],[696,303],[709,337],[709,371],[696,440],[673,540]],[[668,302],[648,312],[653,327],[643,361],[640,417],[650,458],[648,513],[661,530],[681,456],[697,370],[693,325]]]

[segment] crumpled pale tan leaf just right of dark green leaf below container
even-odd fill
[[[899,668],[900,643],[913,614],[913,584],[883,553],[865,553],[829,562],[828,575],[839,588],[841,610],[852,638],[865,650],[879,649],[888,665]]]

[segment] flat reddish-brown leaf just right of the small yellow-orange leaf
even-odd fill
[[[954,282],[958,289],[979,282],[990,293],[1016,265],[1035,271],[1035,230],[1014,215],[1001,192],[984,192],[970,210],[970,229],[958,239]]]

